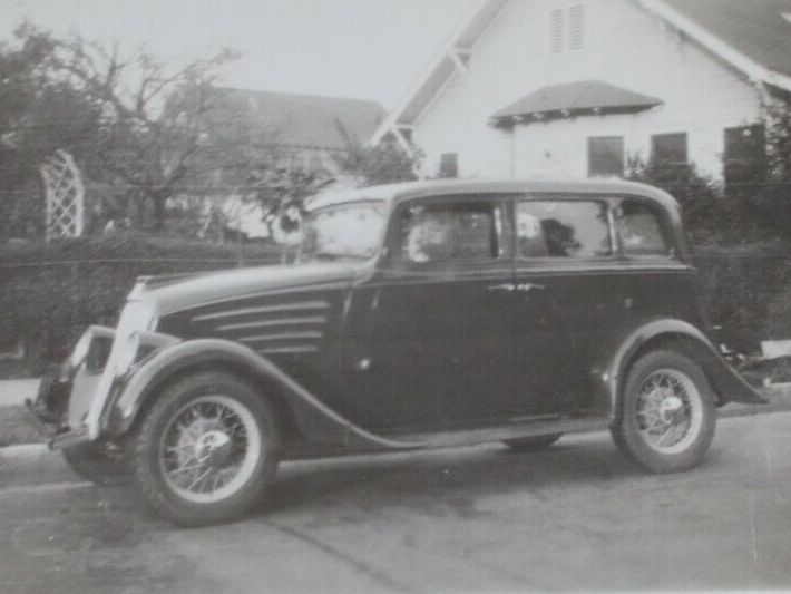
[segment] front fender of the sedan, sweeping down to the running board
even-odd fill
[[[126,434],[145,402],[156,397],[157,388],[177,373],[199,366],[227,364],[253,377],[265,378],[280,388],[300,432],[312,440],[344,446],[371,446],[399,449],[424,447],[421,444],[387,439],[357,427],[324,405],[316,396],[294,381],[279,366],[252,349],[221,339],[179,342],[158,352],[136,369],[117,390],[111,403],[108,432]]]

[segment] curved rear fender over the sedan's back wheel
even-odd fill
[[[748,384],[723,359],[716,347],[697,328],[677,319],[662,319],[648,322],[637,329],[624,332],[592,371],[600,405],[608,410],[611,421],[621,415],[622,388],[625,374],[635,357],[646,347],[662,348],[668,343],[681,345],[703,369],[720,403],[743,402],[762,405],[766,401]]]

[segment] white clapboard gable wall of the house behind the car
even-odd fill
[[[553,11],[582,6],[568,43],[557,49]],[[791,35],[791,28],[789,33]],[[519,125],[488,124],[498,109],[541,87],[602,80],[664,105],[636,115],[577,117]],[[469,74],[457,72],[413,128],[424,172],[457,153],[462,176],[587,175],[587,138],[623,136],[627,154],[648,158],[651,136],[686,133],[689,158],[721,176],[724,129],[755,121],[760,96],[746,78],[681,36],[633,0],[511,0],[475,46]]]

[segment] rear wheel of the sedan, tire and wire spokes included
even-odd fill
[[[715,423],[714,396],[697,363],[675,351],[654,351],[627,376],[613,437],[644,468],[677,473],[700,464]]]

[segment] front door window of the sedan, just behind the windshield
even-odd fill
[[[418,202],[401,211],[402,263],[496,260],[500,255],[499,205],[487,202]]]

